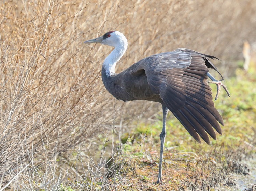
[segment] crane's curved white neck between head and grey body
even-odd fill
[[[127,40],[123,40],[122,43],[115,46],[115,49],[106,57],[103,62],[103,66],[106,69],[106,75],[115,75],[116,63],[121,59],[127,49]]]

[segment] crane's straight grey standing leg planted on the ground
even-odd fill
[[[161,177],[162,177],[162,162],[163,162],[163,146],[165,144],[165,136],[166,136],[166,116],[167,116],[167,112],[168,112],[168,108],[162,104],[162,108],[163,108],[163,129],[162,132],[160,134],[160,140],[161,140],[161,149],[160,149],[160,161],[159,161],[159,170],[158,170],[158,180],[156,183],[159,183],[161,181]]]

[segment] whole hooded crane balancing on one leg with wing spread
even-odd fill
[[[162,176],[168,110],[199,143],[201,143],[200,136],[207,144],[210,144],[207,133],[216,140],[214,129],[222,134],[219,123],[221,125],[224,123],[214,107],[211,88],[207,82],[208,77],[212,80],[209,83],[217,85],[215,100],[218,98],[220,86],[225,89],[228,96],[230,94],[222,82],[209,73],[208,68],[213,68],[219,73],[210,61],[216,57],[179,48],[173,52],[146,57],[116,74],[115,66],[127,49],[127,39],[119,31],[109,31],[101,37],[87,40],[84,43],[95,42],[114,47],[103,62],[101,77],[105,88],[116,99],[148,100],[162,104],[163,128],[160,134],[161,148],[157,183],[161,181]]]

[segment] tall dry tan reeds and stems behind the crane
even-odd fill
[[[31,179],[56,178],[42,172],[58,166],[58,157],[68,161],[74,150],[88,149],[112,125],[114,105],[116,124],[160,110],[150,102],[115,103],[100,73],[112,47],[83,41],[110,30],[124,33],[129,46],[119,72],[180,47],[243,59],[243,42],[256,39],[255,0],[2,0],[0,8],[2,186],[19,172],[15,181],[24,188]]]

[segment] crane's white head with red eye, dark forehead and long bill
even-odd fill
[[[119,31],[109,31],[105,33],[103,36],[87,40],[84,43],[101,43],[103,45],[109,45],[112,47],[122,46],[126,45],[127,47],[127,39],[123,35],[123,33],[120,33]]]

